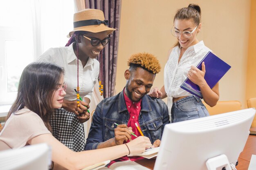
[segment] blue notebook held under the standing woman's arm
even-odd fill
[[[202,62],[204,62],[206,70],[204,79],[210,88],[213,88],[231,68],[229,64],[225,63],[210,51],[198,64],[197,68],[200,70],[202,70]],[[189,78],[186,78],[180,87],[201,99],[203,98],[199,86],[191,82]]]

